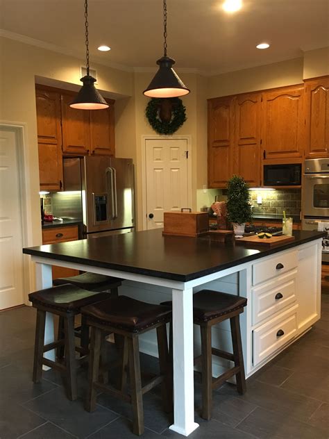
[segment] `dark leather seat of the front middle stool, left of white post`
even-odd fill
[[[91,320],[133,333],[168,320],[171,316],[167,306],[148,304],[127,296],[110,297],[101,304],[85,306],[81,313]]]

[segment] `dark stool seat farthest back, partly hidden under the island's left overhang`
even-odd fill
[[[53,285],[64,285],[71,283],[77,287],[90,291],[105,291],[117,288],[121,285],[122,279],[103,274],[88,273],[78,274],[77,276],[60,277],[53,281]]]

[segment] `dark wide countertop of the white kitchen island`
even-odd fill
[[[24,254],[175,281],[192,281],[226,268],[322,238],[294,231],[295,240],[266,249],[221,244],[210,238],[162,236],[162,229],[111,235],[23,249]]]

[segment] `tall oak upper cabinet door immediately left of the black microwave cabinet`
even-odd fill
[[[261,93],[239,94],[235,100],[233,172],[251,186],[260,186]]]

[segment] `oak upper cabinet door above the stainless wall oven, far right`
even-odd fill
[[[305,81],[306,156],[329,156],[329,76]]]

